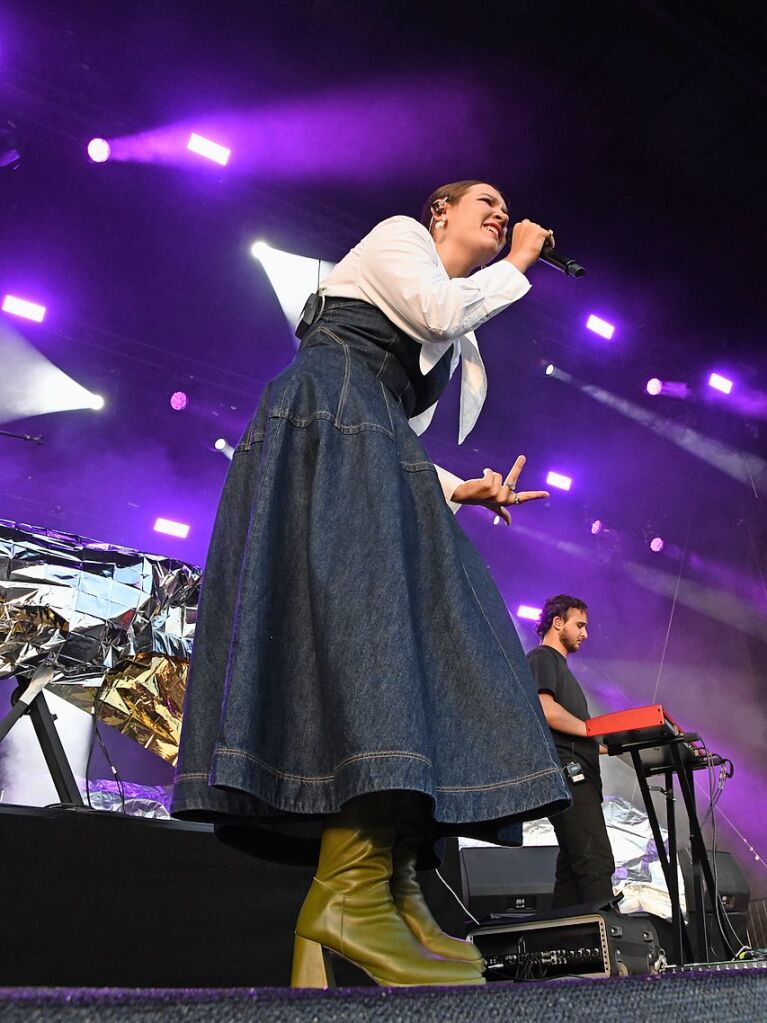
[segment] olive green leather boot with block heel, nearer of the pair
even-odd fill
[[[389,793],[360,796],[327,821],[317,874],[296,924],[292,987],[332,987],[329,952],[376,984],[484,984],[476,966],[423,948],[394,904]]]

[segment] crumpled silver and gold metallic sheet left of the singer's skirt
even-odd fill
[[[200,571],[0,520],[0,678],[51,692],[175,763]]]

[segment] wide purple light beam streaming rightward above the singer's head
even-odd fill
[[[257,172],[266,180],[325,179],[335,187],[367,181],[371,174],[398,178],[403,148],[410,171],[415,167],[424,173],[435,161],[454,159],[458,134],[466,149],[482,148],[487,137],[476,112],[483,98],[481,87],[455,69],[441,79],[418,75],[403,81],[398,75],[392,82],[364,87],[344,83],[343,88],[300,90],[291,99],[275,97],[242,110],[220,110],[205,121],[184,120],[110,138],[110,159],[188,167],[193,132],[231,147],[228,172]],[[430,127],[436,109],[444,134]],[[392,125],[397,126],[397,146],[392,145]],[[364,167],[350,161],[350,151],[365,153]]]

